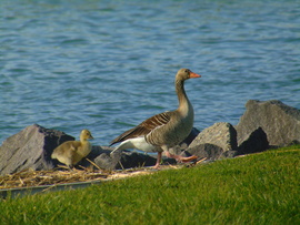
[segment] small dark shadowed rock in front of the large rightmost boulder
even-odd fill
[[[269,149],[267,134],[261,127],[253,131],[249,137],[238,147],[238,155],[263,152]]]

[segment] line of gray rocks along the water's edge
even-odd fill
[[[38,124],[29,125],[8,137],[0,146],[0,175],[23,170],[48,171],[58,166],[51,158],[52,151],[74,137]],[[246,112],[237,125],[220,122],[203,131],[196,127],[190,135],[171,151],[182,155],[197,155],[214,161],[238,155],[263,152],[271,147],[300,143],[300,111],[280,101],[256,101],[246,103]],[[112,147],[93,146],[91,153],[78,166],[122,170],[156,164],[152,154],[123,151],[110,156]],[[91,163],[91,162],[92,163]],[[176,164],[171,158],[163,163]]]

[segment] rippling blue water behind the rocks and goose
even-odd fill
[[[0,1],[0,142],[38,123],[108,145],[178,105],[180,68],[199,130],[250,99],[300,109],[299,1]]]

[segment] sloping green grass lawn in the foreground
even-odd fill
[[[299,160],[292,146],[3,200],[1,224],[300,224]]]

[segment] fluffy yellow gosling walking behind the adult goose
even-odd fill
[[[88,140],[92,140],[91,132],[82,130],[80,133],[80,141],[63,142],[54,149],[51,157],[57,158],[59,162],[72,168],[83,157],[91,152],[91,144]]]

